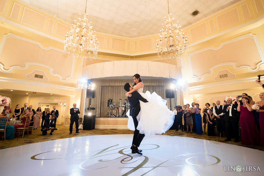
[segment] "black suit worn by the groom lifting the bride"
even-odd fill
[[[143,101],[144,103],[148,102],[137,91],[132,92],[131,97],[128,97],[128,101],[130,104],[130,116],[133,118],[135,125],[132,145],[134,144],[137,147],[140,145],[145,136],[144,134],[140,134],[139,130],[136,129],[138,127],[138,120],[136,119],[136,116],[138,116],[138,113],[140,111],[139,100]]]

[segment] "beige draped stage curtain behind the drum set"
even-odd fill
[[[93,79],[92,84],[95,84],[95,98],[91,99],[91,105],[95,108],[95,111],[93,112],[96,117],[105,117],[108,112],[107,107],[107,100],[112,99],[112,102],[115,104],[116,107],[119,106],[119,99],[121,100],[121,105],[124,104],[125,99],[127,97],[125,96],[126,91],[124,90],[125,83],[129,82],[131,85],[133,85],[133,81],[131,79]],[[169,99],[166,99],[166,89],[170,89],[170,86],[172,84],[171,79],[144,79],[143,80],[144,89],[143,92],[149,91],[150,93],[156,92],[159,96],[161,96],[163,99],[167,100],[167,106],[171,108],[172,111],[174,110],[174,106],[177,104],[176,102],[176,95],[177,98],[180,98],[181,100],[178,100],[178,103],[183,102],[183,96],[181,91],[175,92],[175,98],[171,99],[171,102]],[[178,93],[180,92],[180,93]],[[89,105],[89,99],[87,99],[87,106],[85,109],[87,109]],[[181,105],[181,104],[180,104]],[[123,113],[123,112],[122,112]],[[116,115],[118,115],[118,111],[116,111]]]

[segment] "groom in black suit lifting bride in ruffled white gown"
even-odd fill
[[[126,114],[129,117],[128,128],[135,130],[131,146],[132,153],[142,155],[138,147],[145,135],[165,133],[173,124],[174,113],[166,105],[166,100],[155,92],[143,93],[143,82],[139,74],[133,76],[134,85],[124,85],[126,96],[130,104],[130,110]]]

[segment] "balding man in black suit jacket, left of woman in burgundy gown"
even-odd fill
[[[230,141],[232,137],[232,129],[235,136],[235,142],[239,142],[238,121],[239,115],[237,112],[237,104],[232,104],[232,99],[227,99],[227,105],[224,106],[223,112],[225,112],[225,128],[227,131],[227,139]]]

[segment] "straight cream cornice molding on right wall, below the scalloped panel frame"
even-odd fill
[[[224,86],[224,85],[230,85],[230,84],[252,82],[252,81],[255,81],[256,79],[257,77],[251,77],[251,78],[244,78],[244,79],[239,79],[239,80],[218,82],[218,83],[213,83],[213,84],[205,84],[205,85],[200,85],[200,86],[192,86],[188,88],[189,90],[197,90],[197,89],[204,89],[204,88],[215,87],[215,86]]]

